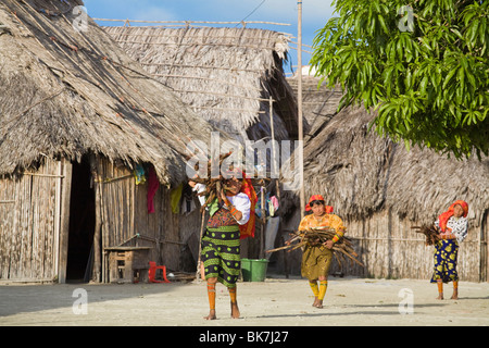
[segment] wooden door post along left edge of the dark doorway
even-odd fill
[[[67,249],[70,236],[70,199],[72,194],[72,163],[63,160],[63,182],[61,188],[60,248],[58,262],[58,282],[66,283]]]

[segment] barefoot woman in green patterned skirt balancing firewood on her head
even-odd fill
[[[254,213],[251,207],[253,201],[256,202],[256,195],[251,182],[237,178],[235,173],[230,178],[223,179],[222,184],[224,187],[215,194],[217,198],[209,202],[208,209],[211,216],[201,243],[210,304],[209,315],[204,316],[206,320],[216,319],[215,285],[217,282],[229,290],[231,318],[239,318],[236,282],[241,268],[240,238],[242,231],[247,227],[254,228],[254,221],[250,219],[250,215]],[[189,185],[198,192],[205,190],[203,184],[190,181]],[[204,207],[204,197],[200,196],[199,199]]]

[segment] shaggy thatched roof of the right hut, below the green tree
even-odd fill
[[[324,195],[344,219],[362,220],[390,209],[426,223],[463,199],[477,225],[489,210],[489,159],[461,161],[417,147],[408,151],[374,129],[367,133],[373,116],[363,107],[344,109],[308,142],[305,199]],[[286,215],[298,209],[297,192],[283,197]]]

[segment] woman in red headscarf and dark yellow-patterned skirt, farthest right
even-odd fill
[[[443,283],[453,282],[452,299],[459,298],[459,274],[456,272],[456,257],[459,244],[467,236],[468,204],[457,200],[438,216],[435,227],[439,231],[438,240],[435,244],[435,268],[431,283],[438,285],[437,299],[443,299]]]

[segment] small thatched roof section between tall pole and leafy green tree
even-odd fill
[[[288,77],[287,82],[297,96],[298,76]],[[341,88],[328,88],[326,84],[319,85],[319,78],[302,76],[302,115],[309,127],[304,129],[304,140],[315,137],[337,113],[342,97]]]

